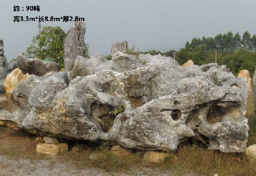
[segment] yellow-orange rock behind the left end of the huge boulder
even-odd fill
[[[10,95],[15,86],[18,83],[27,80],[28,76],[28,74],[23,74],[22,70],[19,68],[14,69],[10,74],[8,74],[4,83],[6,97],[10,98]]]

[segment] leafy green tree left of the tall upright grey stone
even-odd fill
[[[40,34],[33,37],[32,44],[26,50],[26,55],[53,61],[63,67],[63,40],[65,37],[66,32],[60,27],[44,27]]]

